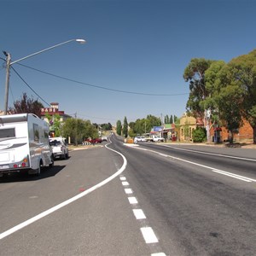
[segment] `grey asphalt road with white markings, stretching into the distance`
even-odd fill
[[[0,255],[255,255],[255,149],[111,142],[1,179]]]

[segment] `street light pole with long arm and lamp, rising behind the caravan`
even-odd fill
[[[27,58],[30,58],[34,55],[38,55],[38,54],[41,54],[43,53],[44,51],[47,51],[49,49],[53,49],[53,48],[56,48],[58,46],[61,46],[62,44],[67,44],[67,43],[70,43],[70,42],[73,42],[73,41],[76,41],[78,42],[79,44],[85,44],[86,41],[84,39],[71,39],[71,40],[68,40],[66,42],[63,42],[61,44],[55,44],[54,46],[51,46],[49,48],[46,48],[46,49],[42,49],[42,50],[39,50],[38,52],[35,52],[33,53],[32,55],[27,55],[26,57],[23,57],[17,61],[12,61],[11,62],[11,55],[7,52],[3,52],[4,55],[6,55],[6,80],[5,80],[5,96],[4,96],[4,114],[7,114],[7,111],[8,111],[8,98],[9,98],[9,69],[11,67],[11,65],[15,64],[16,62],[18,61],[23,61]]]

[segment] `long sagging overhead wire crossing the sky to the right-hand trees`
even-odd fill
[[[37,71],[39,73],[44,73],[44,74],[47,74],[49,76],[53,76],[53,77],[58,78],[58,79],[67,80],[67,81],[70,81],[70,82],[73,82],[73,83],[76,83],[76,84],[84,84],[84,85],[87,85],[87,86],[90,86],[90,87],[94,87],[94,88],[97,88],[97,89],[102,89],[102,90],[111,90],[111,91],[120,92],[120,93],[143,95],[143,96],[181,96],[181,95],[188,95],[189,94],[189,93],[154,94],[154,93],[135,92],[135,91],[128,91],[128,90],[116,90],[116,89],[111,89],[111,88],[108,88],[108,87],[103,87],[103,86],[99,86],[99,85],[95,85],[95,84],[88,84],[88,83],[80,82],[80,81],[77,81],[77,80],[74,80],[74,79],[68,79],[68,78],[65,78],[65,77],[61,77],[59,75],[55,75],[53,73],[49,73],[49,72],[45,72],[45,71],[39,70],[39,69],[34,68],[34,67],[28,67],[28,66],[20,64],[20,63],[17,63],[17,64],[22,66],[22,67],[27,67],[27,68],[30,68],[32,70],[35,70],[35,71]]]

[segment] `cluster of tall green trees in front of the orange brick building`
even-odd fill
[[[233,135],[246,119],[256,143],[256,49],[230,62],[191,59],[183,79],[189,82],[187,111],[209,125],[225,126]]]

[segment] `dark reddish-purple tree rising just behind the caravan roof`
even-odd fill
[[[20,101],[14,102],[14,108],[9,108],[10,113],[34,113],[41,118],[41,108],[44,105],[38,100],[28,98],[24,92],[20,98]]]

